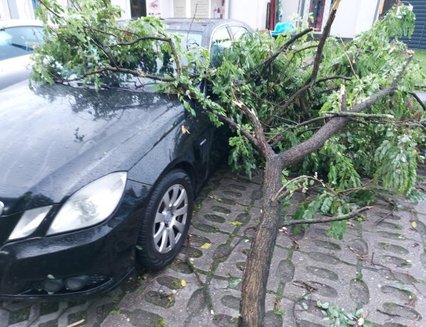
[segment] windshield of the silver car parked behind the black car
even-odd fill
[[[43,44],[43,28],[16,26],[0,29],[0,60],[28,55]]]

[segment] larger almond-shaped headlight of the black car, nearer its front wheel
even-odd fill
[[[48,235],[101,223],[114,212],[126,186],[127,173],[119,171],[87,184],[70,196],[48,230]]]

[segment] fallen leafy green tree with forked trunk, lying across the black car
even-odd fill
[[[118,9],[109,1],[70,1],[63,9],[40,0],[40,18],[55,28],[46,27],[46,45],[35,53],[34,80],[100,88],[120,73],[165,82],[162,92],[178,94],[190,112],[197,100],[212,122],[234,130],[233,168],[249,176],[264,168],[261,223],[244,269],[239,326],[263,326],[281,210],[295,191],[315,195],[294,220],[329,215],[324,221],[333,237],[343,236],[345,219],[368,209],[376,188],[420,196],[416,168],[423,160],[426,114],[413,92],[425,75],[398,41],[413,32],[413,13],[400,5],[370,31],[343,42],[329,37],[340,2],[319,39],[304,23],[276,39],[256,32],[222,49],[220,65],[213,66],[205,50],[182,49],[178,36],[156,19],[117,25]],[[167,63],[163,75],[156,71],[158,53]],[[151,64],[140,65],[141,55]],[[305,175],[289,180],[290,173]],[[361,176],[375,183],[363,186]]]

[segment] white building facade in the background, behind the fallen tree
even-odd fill
[[[0,19],[33,19],[39,0],[0,0]],[[68,0],[57,0],[65,6]],[[121,18],[141,16],[160,18],[234,18],[252,28],[273,29],[275,19],[295,22],[295,16],[305,21],[312,13],[310,23],[321,33],[335,0],[110,0],[120,6]],[[342,0],[332,26],[332,35],[353,38],[366,31],[390,9],[396,0]],[[403,1],[405,2],[405,1]],[[408,44],[413,48],[426,48],[426,0],[410,0],[417,15],[415,33]],[[274,12],[271,12],[274,11]],[[273,21],[273,23],[271,23]]]

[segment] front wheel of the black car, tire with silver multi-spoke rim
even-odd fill
[[[170,171],[155,184],[136,245],[138,265],[160,270],[175,259],[190,227],[193,204],[185,171]]]

